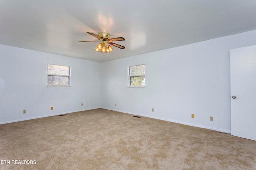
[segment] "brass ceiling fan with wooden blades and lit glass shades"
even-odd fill
[[[125,39],[123,37],[118,37],[118,38],[110,38],[110,34],[109,33],[98,33],[98,35],[95,35],[94,33],[89,33],[88,34],[98,38],[99,40],[95,40],[95,41],[101,41],[101,43],[99,43],[97,45],[97,47],[95,48],[95,50],[97,52],[100,53],[109,53],[113,50],[113,48],[110,45],[113,45],[115,47],[118,47],[120,49],[124,49],[125,47],[116,43],[112,43],[112,41],[125,41]],[[79,43],[82,42],[92,42],[92,41],[78,41]]]

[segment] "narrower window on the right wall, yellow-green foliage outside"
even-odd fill
[[[145,87],[145,64],[129,66],[129,87]]]

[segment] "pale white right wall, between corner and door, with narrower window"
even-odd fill
[[[230,133],[230,49],[255,44],[256,30],[102,63],[101,106]],[[128,88],[137,64],[146,87]]]

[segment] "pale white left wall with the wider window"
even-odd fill
[[[48,63],[70,66],[72,87],[46,87]],[[97,62],[0,45],[0,124],[101,107],[100,69]]]

